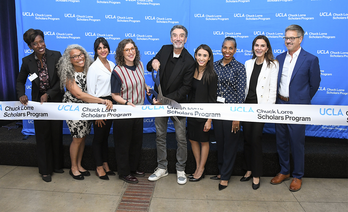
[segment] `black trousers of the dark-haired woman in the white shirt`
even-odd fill
[[[113,119],[103,120],[105,125],[98,127],[93,120],[94,137],[92,142],[93,155],[97,166],[103,166],[108,162],[108,138]]]

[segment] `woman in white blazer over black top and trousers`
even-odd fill
[[[253,57],[245,62],[246,88],[245,104],[275,104],[277,96],[278,61],[274,59],[272,48],[266,36],[257,36],[252,44]],[[260,187],[262,168],[262,131],[264,123],[242,123],[244,135],[244,163],[247,172],[240,181],[248,181],[253,176],[252,187]],[[252,174],[252,175],[251,175]]]

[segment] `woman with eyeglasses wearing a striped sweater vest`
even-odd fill
[[[144,65],[140,52],[132,39],[122,40],[116,49],[117,66],[111,75],[111,96],[118,105],[143,105],[145,89]],[[149,94],[149,93],[148,93]],[[138,170],[140,151],[143,145],[144,118],[114,119],[113,140],[119,179],[128,183],[138,183],[136,177],[145,173]]]

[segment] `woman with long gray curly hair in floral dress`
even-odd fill
[[[89,95],[86,86],[86,73],[92,64],[92,59],[86,50],[77,44],[69,45],[58,62],[58,75],[60,87],[66,91],[63,103],[100,103],[106,109],[112,108],[112,102]],[[81,166],[82,154],[85,149],[85,139],[90,133],[92,122],[90,120],[66,120],[72,142],[70,144],[71,169],[69,174],[76,180],[83,180],[90,173]]]

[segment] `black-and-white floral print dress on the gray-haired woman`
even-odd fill
[[[75,72],[75,82],[80,89],[87,93],[86,74],[83,72]],[[76,98],[70,91],[66,90],[63,96],[63,103],[86,103]],[[92,127],[91,120],[66,120],[70,134],[74,138],[82,138],[90,133]]]

